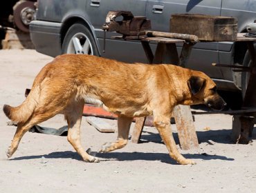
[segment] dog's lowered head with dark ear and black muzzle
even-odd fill
[[[205,74],[190,77],[188,87],[193,104],[203,103],[214,110],[222,110],[226,106],[225,101],[217,93],[216,84]]]

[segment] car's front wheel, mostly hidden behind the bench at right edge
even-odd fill
[[[254,45],[254,48],[256,50],[256,44]],[[253,61],[250,59],[250,53],[247,50],[244,56],[243,65],[249,67],[250,65],[252,65],[252,62]],[[243,99],[246,94],[249,78],[250,78],[250,72],[241,72],[241,94],[243,96]]]

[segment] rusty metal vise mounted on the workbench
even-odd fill
[[[116,21],[117,17],[122,16],[122,21]],[[106,23],[102,26],[103,30],[118,32],[123,38],[139,39],[145,35],[145,30],[150,30],[151,23],[146,17],[134,17],[129,11],[109,11]]]

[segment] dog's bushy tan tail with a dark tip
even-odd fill
[[[25,123],[33,114],[39,101],[40,89],[39,86],[33,88],[26,100],[17,107],[3,105],[3,112],[6,116],[17,123]]]

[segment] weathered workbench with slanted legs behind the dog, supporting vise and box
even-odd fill
[[[183,67],[188,63],[192,46],[195,44],[195,42],[191,43],[183,39],[170,39],[163,37],[147,37],[145,39],[141,39],[140,41],[143,45],[149,63],[172,63],[174,65],[180,65]],[[237,34],[236,41],[243,41],[247,43],[253,63],[252,65],[250,65],[249,70],[247,69],[246,71],[256,72],[256,54],[253,45],[253,43],[256,41],[256,38],[244,37],[244,34],[239,33]],[[155,53],[152,52],[149,42],[157,43]],[[176,43],[183,43],[183,48],[180,55],[177,52]],[[226,67],[235,68],[234,65],[226,65]],[[256,74],[250,73],[248,87],[246,89],[246,94],[243,99],[243,108],[248,109],[256,107],[256,89],[254,85],[255,82]],[[174,109],[173,115],[176,121],[176,128],[178,131],[181,148],[183,150],[197,148],[199,146],[199,143],[194,128],[190,107],[185,105],[178,105]],[[248,136],[250,136],[253,130],[255,116],[255,112],[241,113],[240,115],[233,116],[231,135],[233,141],[235,141],[236,143],[248,143]],[[145,118],[137,119],[131,137],[131,141],[133,141],[134,143],[138,143],[140,135],[143,131],[144,123]]]

